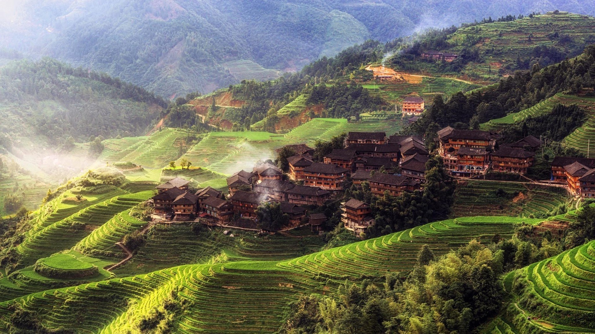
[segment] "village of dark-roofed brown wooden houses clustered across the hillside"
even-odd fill
[[[456,179],[481,178],[487,172],[527,174],[543,142],[527,136],[500,144],[500,138],[490,131],[445,127],[437,131],[434,144],[444,169]],[[306,144],[284,146],[277,153],[281,159],[283,152],[291,152],[286,170],[267,160],[251,171],[237,171],[226,180],[227,194],[212,187],[190,191],[189,181],[174,177],[156,187],[158,194],[150,202],[158,220],[252,229],[258,229],[262,203],[275,202],[289,217],[281,229],[308,225],[312,231],[321,231],[327,217],[316,209],[328,201],[342,200],[349,188],[367,187],[377,197],[422,190],[431,157],[426,146],[421,136],[349,132],[343,148],[332,149],[320,162]],[[557,156],[551,175],[549,180],[534,181],[566,187],[577,197],[595,196],[595,159]],[[350,198],[340,203],[340,210],[343,226],[355,235],[364,234],[374,224],[371,203]]]

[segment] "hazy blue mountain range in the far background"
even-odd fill
[[[274,78],[366,39],[533,11],[593,14],[593,2],[8,0],[0,48],[106,71],[174,97]]]

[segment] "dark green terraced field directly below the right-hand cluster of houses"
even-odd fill
[[[565,204],[568,194],[558,187],[513,182],[465,181],[455,193],[453,216],[544,216]],[[496,191],[502,189],[508,198]],[[522,193],[522,194],[521,194]]]

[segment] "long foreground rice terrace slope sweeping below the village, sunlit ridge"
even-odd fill
[[[7,326],[8,305],[18,303],[48,327],[73,327],[79,333],[126,332],[176,291],[189,303],[176,319],[178,333],[273,333],[284,321],[287,303],[301,293],[328,294],[345,279],[361,275],[405,275],[424,244],[440,255],[472,239],[510,237],[521,220],[539,221],[445,220],[293,260],[195,264],[38,292],[1,303],[0,327]],[[89,303],[94,307],[86,307]]]

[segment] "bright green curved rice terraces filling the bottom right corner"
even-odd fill
[[[505,290],[492,333],[595,333],[595,241],[509,273]]]

